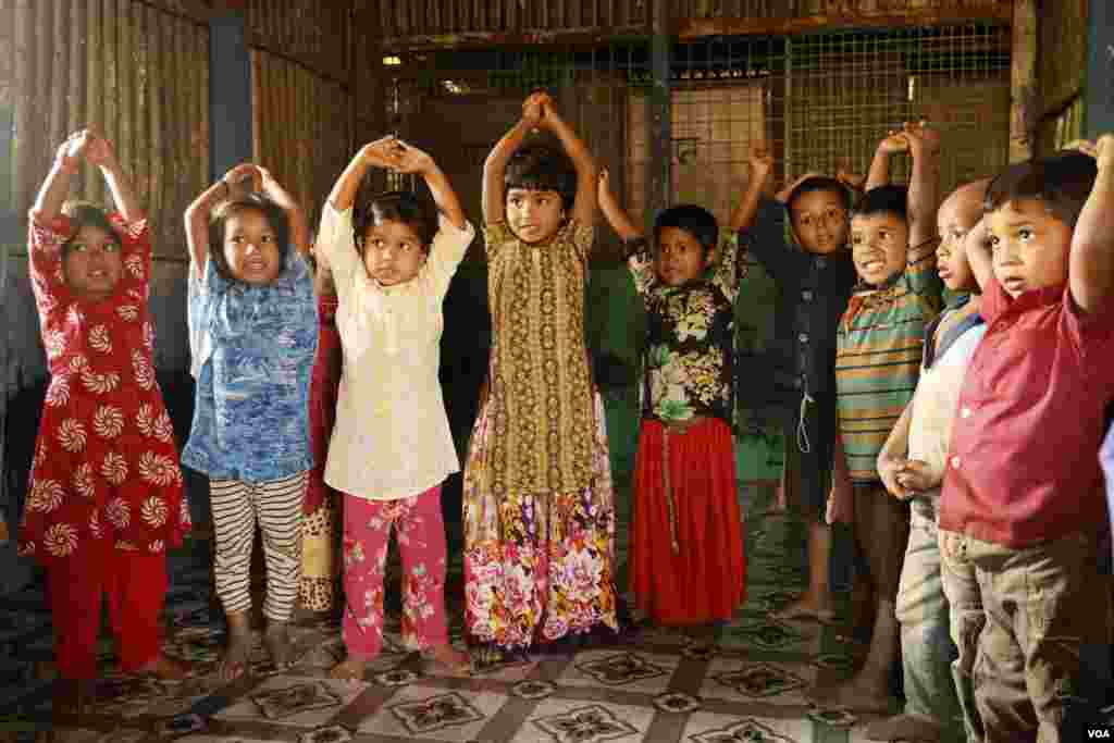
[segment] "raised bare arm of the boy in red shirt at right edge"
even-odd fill
[[[1072,234],[1067,281],[1079,309],[1098,312],[1114,294],[1114,134],[1084,149],[1097,160],[1098,175]]]

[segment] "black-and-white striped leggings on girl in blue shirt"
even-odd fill
[[[307,472],[299,472],[267,482],[209,482],[216,530],[216,594],[225,614],[252,607],[252,547],[258,524],[267,566],[263,616],[274,622],[290,620],[302,577],[302,500],[307,481]]]

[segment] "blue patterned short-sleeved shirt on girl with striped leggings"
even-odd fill
[[[317,348],[313,274],[291,251],[273,283],[229,282],[206,262],[189,270],[197,388],[182,463],[211,479],[278,480],[313,466],[310,373]]]

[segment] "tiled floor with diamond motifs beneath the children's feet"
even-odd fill
[[[209,606],[207,545],[175,555],[168,597],[167,652],[196,664],[179,684],[109,676],[94,708],[56,740],[127,743],[373,743],[483,741],[597,743],[837,743],[861,741],[862,720],[817,710],[803,696],[818,677],[846,675],[851,654],[836,632],[768,619],[771,606],[799,587],[800,529],[784,518],[747,509],[750,598],[709,647],[683,634],[646,628],[619,645],[574,657],[534,656],[471,678],[441,677],[399,644],[389,618],[383,655],[358,684],[333,682],[328,668],[343,648],[335,625],[300,626],[303,651],[276,673],[262,649],[250,677],[222,687],[209,673],[223,644],[223,623]],[[786,557],[793,556],[793,557]],[[450,600],[459,574],[450,576]],[[459,636],[459,600],[455,602]],[[49,713],[49,615],[26,590],[0,602],[0,731],[32,740]],[[111,667],[106,643],[104,661]],[[0,740],[3,740],[0,732]]]

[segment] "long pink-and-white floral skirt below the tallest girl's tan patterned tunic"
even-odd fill
[[[472,428],[463,483],[465,623],[470,639],[525,648],[596,626],[618,629],[615,504],[604,404],[595,398],[594,477],[580,492],[514,493],[485,483],[490,405]]]

